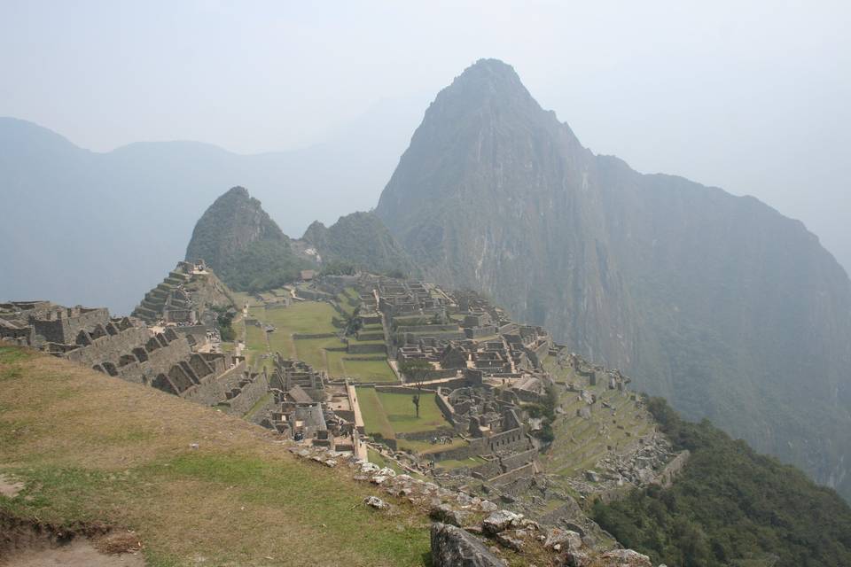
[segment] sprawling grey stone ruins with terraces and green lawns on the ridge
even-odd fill
[[[583,446],[587,470],[548,466],[560,438],[582,437],[591,416],[617,408],[626,420],[626,406],[636,413],[642,401],[627,377],[568,353],[543,328],[511,321],[473,291],[364,272],[307,276],[234,292],[203,260],[180,262],[131,316],[10,302],[0,306],[0,332],[243,418],[294,443],[297,456],[370,463],[355,479],[427,481],[444,497],[461,491],[462,506],[430,508],[444,522],[469,517],[467,500],[485,502],[477,513],[494,512],[489,501],[511,502],[529,522],[582,526],[579,545],[593,548],[612,538],[577,499],[616,498],[625,486],[675,474],[668,464],[679,459],[646,414],[641,427],[621,426],[631,444],[603,435],[605,447]],[[225,310],[235,315],[233,341],[218,333]],[[517,548],[512,537],[508,547]]]

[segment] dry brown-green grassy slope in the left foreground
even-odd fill
[[[371,485],[313,464],[236,417],[0,346],[0,475],[26,485],[0,514],[135,530],[151,566],[427,561],[425,516],[376,513]]]

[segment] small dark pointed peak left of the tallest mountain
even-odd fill
[[[276,287],[314,262],[278,228],[260,201],[242,187],[215,199],[201,216],[186,248],[186,260],[205,260],[237,291]]]

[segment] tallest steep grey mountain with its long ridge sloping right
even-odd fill
[[[851,495],[851,283],[800,222],[594,155],[496,60],[430,105],[376,213],[426,278]]]

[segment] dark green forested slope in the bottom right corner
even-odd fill
[[[595,520],[623,545],[682,567],[851,565],[851,508],[837,493],[706,420],[684,421],[665,400],[649,407],[691,459],[668,489],[595,503]]]

